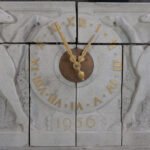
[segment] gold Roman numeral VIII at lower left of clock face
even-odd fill
[[[42,80],[41,76],[33,78],[33,83],[41,95],[43,95],[46,92],[46,86],[44,85],[44,81]]]

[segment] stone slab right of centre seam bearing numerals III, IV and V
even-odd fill
[[[90,54],[94,60],[93,73],[78,83],[77,89],[78,145],[120,145],[121,46],[96,45]]]

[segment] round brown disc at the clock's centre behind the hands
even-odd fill
[[[82,53],[82,49],[74,48],[72,49],[72,52],[76,56],[80,56]],[[59,62],[59,68],[61,74],[66,78],[67,80],[71,82],[81,82],[82,80],[79,79],[77,71],[73,68],[73,63],[69,60],[69,55],[67,52],[65,52]],[[94,69],[94,62],[92,56],[87,53],[85,56],[85,60],[81,63],[81,70],[84,72],[84,80],[90,77]]]

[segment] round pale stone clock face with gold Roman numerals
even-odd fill
[[[59,22],[67,42],[75,41],[75,16],[63,15],[44,26],[34,41],[61,42],[54,23]],[[96,43],[120,42],[120,38],[111,28],[102,24],[93,16],[79,16],[79,42],[88,42],[96,27],[100,27]],[[69,44],[71,49],[76,45]],[[78,43],[79,49],[85,45]],[[122,50],[116,45],[93,45],[89,55],[93,61],[90,76],[76,84],[67,80],[60,70],[60,60],[65,53],[61,44],[32,45],[31,47],[31,86],[34,93],[47,105],[67,113],[75,111],[75,97],[79,113],[93,112],[110,102],[120,92]],[[89,68],[90,69],[90,68]],[[63,69],[62,69],[63,70]],[[67,68],[64,68],[64,73]],[[88,68],[87,68],[88,70]],[[70,73],[71,76],[71,73]],[[77,91],[77,95],[76,95]]]

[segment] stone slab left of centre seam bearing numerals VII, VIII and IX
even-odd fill
[[[32,146],[75,146],[76,90],[59,70],[63,53],[60,45],[31,46]]]

